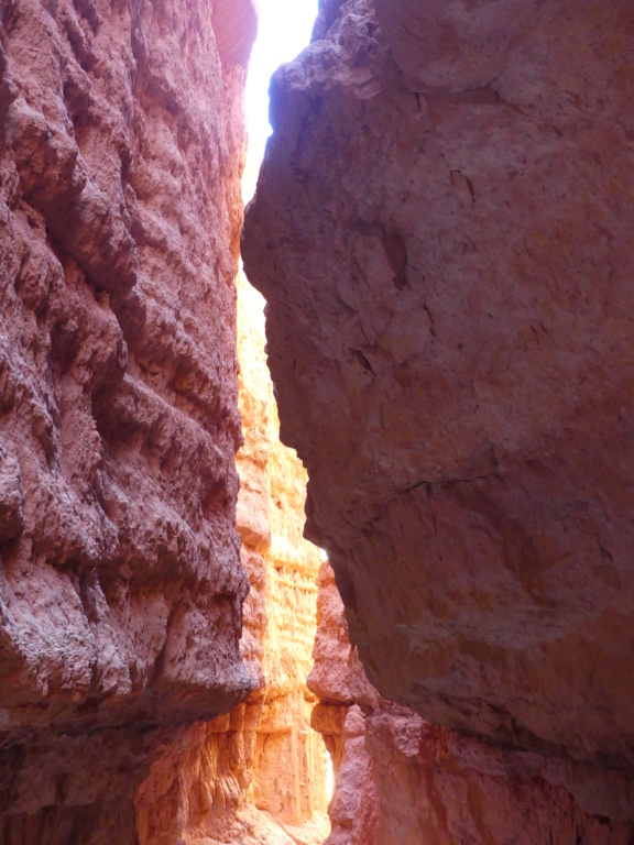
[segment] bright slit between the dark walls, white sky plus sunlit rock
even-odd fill
[[[255,190],[269,127],[269,80],[308,43],[315,0],[273,0],[259,10],[259,35],[247,84],[249,147],[242,180],[247,204]],[[273,385],[266,365],[264,299],[238,277],[240,413],[244,446],[238,529],[251,582],[244,605],[242,651],[258,685],[245,705],[258,718],[243,725],[244,762],[252,778],[242,817],[259,842],[320,845],[332,762],[311,728],[317,698],[307,687],[317,630],[317,575],[321,550],[303,537],[307,476],[294,450],[280,442]],[[251,735],[250,735],[251,734]],[[238,815],[240,820],[240,813]]]

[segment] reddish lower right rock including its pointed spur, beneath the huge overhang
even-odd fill
[[[347,643],[327,563],[318,606],[313,724],[338,749],[326,845],[628,845],[632,826],[586,813],[542,777],[538,755],[431,725],[379,695]]]

